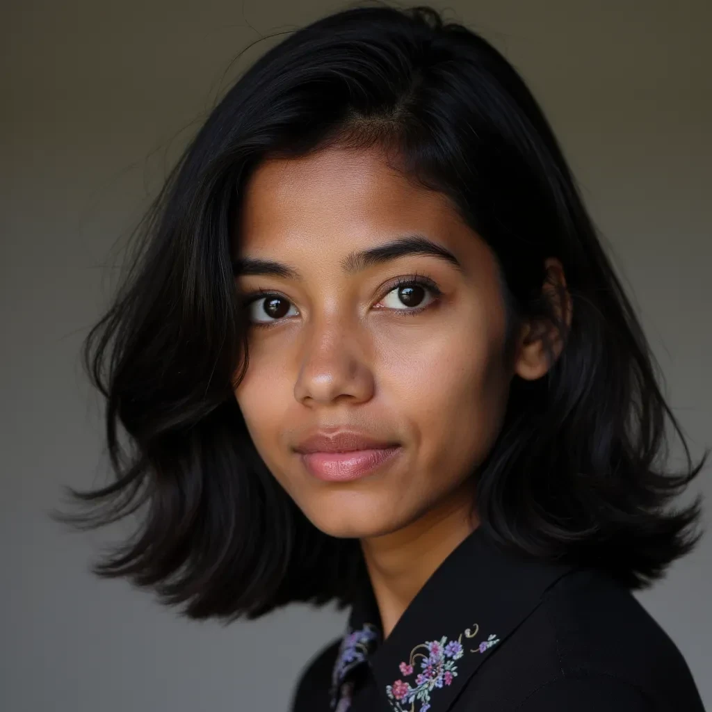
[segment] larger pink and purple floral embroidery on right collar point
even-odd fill
[[[464,632],[466,638],[473,638],[477,635],[479,626],[475,626],[474,631],[467,628]],[[456,660],[464,655],[461,633],[456,640],[448,642],[443,636],[440,640],[432,640],[421,643],[412,649],[408,662],[399,665],[402,676],[409,677],[414,673],[414,666],[418,658],[420,669],[414,680],[415,686],[410,682],[396,680],[392,685],[386,686],[386,693],[391,701],[391,706],[395,712],[416,712],[416,701],[421,705],[417,712],[427,712],[430,709],[430,693],[434,688],[449,686],[457,676]],[[496,635],[491,635],[483,640],[478,647],[471,650],[471,653],[483,653],[499,639]],[[424,652],[427,651],[427,652]],[[409,705],[406,707],[404,705]]]

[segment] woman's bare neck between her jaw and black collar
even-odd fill
[[[384,639],[429,577],[478,527],[472,503],[472,486],[466,482],[404,528],[361,540]]]

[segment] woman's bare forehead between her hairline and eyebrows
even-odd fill
[[[241,251],[286,246],[290,237],[323,247],[327,238],[353,246],[404,231],[445,236],[460,223],[444,195],[389,167],[380,150],[338,147],[260,164],[246,184],[240,221]]]

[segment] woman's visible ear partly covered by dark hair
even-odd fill
[[[555,257],[544,263],[546,278],[542,293],[553,305],[565,329],[571,326],[572,300],[566,288],[564,268]],[[514,371],[521,378],[534,381],[548,372],[564,347],[564,335],[550,320],[528,321],[522,327]]]

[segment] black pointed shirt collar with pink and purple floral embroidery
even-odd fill
[[[384,642],[370,584],[355,597],[332,678],[332,708],[348,708],[370,666],[386,708],[446,712],[483,662],[571,565],[496,545],[478,527],[426,581]]]

